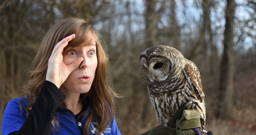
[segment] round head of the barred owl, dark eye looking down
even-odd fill
[[[140,54],[140,66],[147,81],[177,78],[185,67],[184,56],[171,46],[154,46]]]

